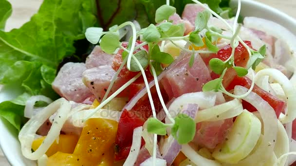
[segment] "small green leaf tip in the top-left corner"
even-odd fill
[[[11,4],[7,0],[0,0],[0,31],[4,30],[5,23],[12,13]]]

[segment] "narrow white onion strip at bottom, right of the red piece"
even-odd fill
[[[143,131],[142,126],[137,127],[133,130],[132,143],[129,151],[129,156],[127,160],[124,162],[123,166],[133,166],[135,164],[141,148],[142,131]]]

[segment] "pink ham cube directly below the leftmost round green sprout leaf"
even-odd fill
[[[113,56],[105,53],[100,46],[95,46],[92,53],[86,58],[86,68],[93,68],[98,66],[111,66]]]

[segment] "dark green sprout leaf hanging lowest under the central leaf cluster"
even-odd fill
[[[170,54],[161,52],[158,45],[152,48],[151,59],[162,64],[171,64],[174,61],[174,58]]]

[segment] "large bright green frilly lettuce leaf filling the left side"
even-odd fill
[[[51,87],[56,68],[75,52],[74,42],[84,39],[88,27],[96,24],[93,0],[44,0],[37,14],[19,29],[0,31],[0,84],[21,89],[14,100],[0,103],[0,116],[18,130],[26,100],[58,95]],[[11,5],[0,1],[0,29],[11,14]]]

